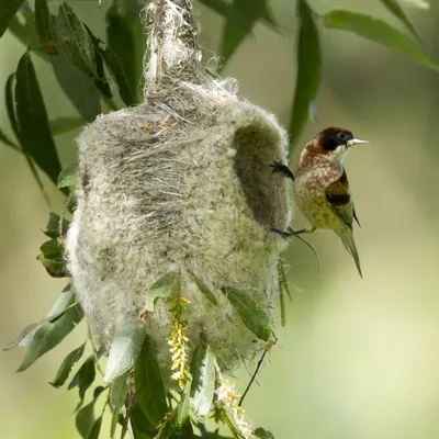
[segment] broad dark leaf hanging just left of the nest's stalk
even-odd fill
[[[115,2],[106,12],[105,21],[108,47],[106,56],[103,54],[102,56],[119,86],[121,99],[126,105],[132,105],[137,102],[140,81],[134,26]]]

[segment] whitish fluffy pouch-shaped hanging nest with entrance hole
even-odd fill
[[[138,315],[158,278],[176,268],[192,272],[218,304],[183,282],[189,346],[210,344],[230,368],[257,345],[221,289],[245,291],[277,313],[283,243],[268,228],[284,229],[291,212],[288,182],[269,165],[285,160],[288,140],[274,116],[238,99],[229,82],[192,57],[194,83],[179,59],[169,66],[184,78],[169,70],[149,78],[144,104],[102,115],[80,135],[68,268],[108,349],[116,323]],[[145,324],[168,371],[170,322],[162,300]]]

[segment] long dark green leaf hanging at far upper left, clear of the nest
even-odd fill
[[[61,167],[35,69],[27,52],[21,57],[16,69],[15,103],[23,149],[56,183]]]

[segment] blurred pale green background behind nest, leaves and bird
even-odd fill
[[[71,1],[98,36],[103,14],[94,1]],[[259,24],[223,75],[236,77],[240,93],[289,124],[294,88],[295,2],[272,0],[283,26],[279,35]],[[379,1],[313,1],[318,12],[347,8],[395,21]],[[202,44],[215,50],[222,20],[196,8]],[[439,59],[439,5],[407,10],[426,49]],[[317,232],[309,241],[320,274],[300,241],[286,255],[293,302],[288,325],[250,391],[245,408],[255,426],[277,439],[434,439],[439,437],[439,75],[348,33],[320,29],[323,81],[317,121],[309,122],[291,157],[322,128],[353,131],[370,144],[356,147],[346,167],[362,229],[357,230],[364,280],[338,238]],[[0,83],[24,47],[8,33],[0,42]],[[34,58],[49,116],[74,115],[49,67]],[[0,124],[7,116],[0,108]],[[7,133],[11,133],[5,130]],[[77,134],[77,133],[76,133]],[[63,165],[75,160],[75,133],[57,137]],[[24,158],[0,146],[0,345],[46,313],[65,284],[35,259],[49,207]],[[46,180],[45,180],[46,181]],[[63,200],[49,188],[53,209]],[[295,214],[294,226],[304,221]],[[70,416],[76,391],[48,381],[83,328],[15,373],[23,351],[1,352],[1,438],[77,438]],[[236,373],[239,390],[248,379]],[[106,426],[104,430],[108,431]],[[102,434],[105,437],[105,432]]]

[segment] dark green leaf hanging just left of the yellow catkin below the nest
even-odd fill
[[[168,412],[168,405],[160,369],[149,338],[145,339],[134,365],[134,384],[143,412],[154,426],[158,426]]]

